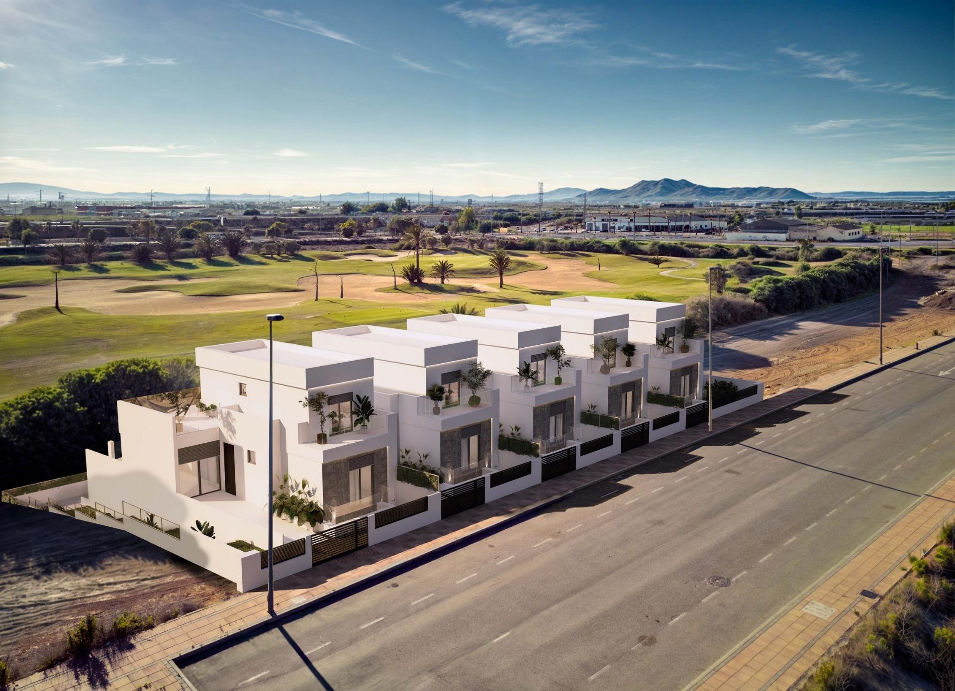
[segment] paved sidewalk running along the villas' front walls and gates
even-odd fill
[[[944,340],[944,337],[933,337],[920,345],[924,349]],[[892,351],[886,354],[885,362],[888,364],[898,361],[914,352],[911,349]],[[713,421],[712,434],[725,432],[775,410],[796,405],[826,388],[859,378],[878,368],[878,363],[860,363],[820,379],[818,386],[782,392]],[[701,443],[710,436],[706,424],[697,425],[685,432],[575,470],[490,504],[469,509],[393,540],[288,576],[276,582],[275,610],[279,615],[283,615],[307,607],[317,598],[348,589],[401,565],[451,549],[462,540],[502,527],[521,515],[559,501],[585,486],[604,482],[635,466]],[[122,649],[105,649],[81,663],[64,663],[46,672],[32,675],[17,682],[16,688],[37,691],[87,688],[134,691],[144,688],[148,683],[148,688],[152,689],[187,689],[170,659],[266,619],[264,592],[240,594],[225,602],[161,624],[135,637]]]

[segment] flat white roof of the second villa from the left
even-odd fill
[[[473,338],[418,334],[369,324],[315,331],[311,340],[316,348],[421,367],[477,357],[477,341]]]

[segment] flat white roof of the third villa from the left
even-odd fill
[[[408,320],[408,329],[417,333],[458,334],[477,338],[481,345],[502,348],[530,348],[561,340],[561,327],[525,324],[475,314],[432,314]]]

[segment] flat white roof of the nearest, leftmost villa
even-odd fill
[[[297,343],[273,341],[273,380],[312,388],[374,375],[371,357],[351,355]],[[268,341],[265,338],[220,343],[196,349],[196,364],[233,375],[268,380]]]

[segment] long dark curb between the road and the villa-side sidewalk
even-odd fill
[[[572,489],[565,490],[560,494],[553,495],[546,499],[541,499],[540,501],[532,505],[518,509],[516,512],[512,513],[509,516],[506,516],[505,518],[501,519],[498,523],[495,523],[494,525],[485,526],[483,528],[476,529],[471,533],[468,533],[466,535],[461,535],[460,537],[452,540],[451,542],[445,545],[441,545],[439,547],[435,547],[434,549],[425,551],[420,554],[415,554],[414,556],[410,556],[401,561],[397,561],[387,567],[379,569],[376,572],[369,573],[368,575],[363,576],[355,581],[352,581],[348,584],[340,586],[339,588],[333,591],[330,591],[329,593],[316,595],[305,602],[298,603],[294,605],[293,607],[290,607],[282,611],[281,613],[278,613],[274,617],[263,616],[261,619],[250,623],[249,625],[245,626],[242,629],[229,632],[228,634],[223,634],[223,636],[221,637],[209,640],[205,643],[202,643],[202,645],[194,647],[188,651],[170,656],[169,658],[166,658],[166,660],[170,663],[172,668],[175,670],[176,676],[179,678],[179,680],[187,688],[194,690],[195,687],[192,685],[191,682],[189,682],[186,679],[184,673],[181,670],[180,663],[182,662],[190,662],[193,659],[201,659],[203,657],[206,657],[210,653],[218,652],[219,650],[227,647],[228,644],[235,639],[238,639],[240,637],[251,637],[255,635],[256,633],[262,630],[265,630],[269,626],[275,625],[277,623],[281,623],[282,621],[286,620],[287,618],[291,616],[300,615],[306,610],[315,609],[325,603],[330,603],[332,601],[342,599],[352,593],[364,590],[369,585],[371,585],[374,581],[386,579],[387,577],[392,575],[394,572],[407,571],[422,563],[431,561],[436,557],[442,556],[443,554],[446,554],[450,551],[456,551],[457,549],[460,549],[461,547],[464,547],[472,542],[476,542],[478,539],[481,539],[489,534],[493,534],[494,532],[497,532],[501,529],[506,529],[513,526],[516,523],[520,523],[521,521],[531,517],[533,514],[540,512],[542,509],[546,507],[550,507],[554,504],[557,504],[558,502],[561,502],[563,499],[566,499],[567,497],[583,489],[586,489],[587,487],[604,483],[607,480],[611,480],[621,475],[622,473],[629,472],[630,470],[638,468],[642,465],[646,465],[648,463],[652,463],[653,461],[658,461],[659,459],[664,458],[665,456],[690,448],[691,446],[697,446],[700,443],[703,443],[709,439],[712,439],[713,437],[732,431],[734,429],[738,429],[739,427],[750,424],[753,421],[760,420],[761,418],[765,418],[766,416],[772,415],[773,413],[779,410],[782,410],[784,408],[798,405],[805,400],[812,399],[818,396],[819,394],[836,391],[837,389],[842,388],[843,386],[847,386],[849,384],[855,383],[859,381],[860,379],[867,378],[878,372],[883,372],[884,370],[887,370],[899,363],[906,362],[915,357],[923,355],[923,353],[929,353],[933,350],[936,350],[938,348],[941,348],[944,345],[948,345],[953,342],[955,342],[955,336],[949,336],[945,340],[939,343],[936,343],[932,346],[929,346],[928,348],[911,353],[907,356],[902,356],[897,360],[893,360],[892,362],[884,363],[873,370],[869,370],[868,372],[864,372],[855,377],[848,378],[844,381],[840,381],[837,384],[834,384],[833,386],[813,391],[811,394],[807,394],[806,396],[800,399],[790,401],[786,405],[776,407],[773,410],[768,410],[766,412],[759,413],[758,415],[755,415],[752,418],[749,418],[747,420],[736,422],[725,429],[721,429],[719,431],[713,430],[711,434],[707,434],[706,436],[701,437],[700,439],[682,444],[672,449],[668,449],[667,451],[662,451],[656,454],[655,456],[651,456],[650,458],[647,458],[644,461],[641,461],[639,463],[632,464],[632,465],[627,465],[626,467],[621,468],[619,470],[615,470],[614,472],[609,473],[603,477],[584,483],[584,485],[576,486]],[[785,393],[785,392],[781,392],[781,393]],[[776,394],[775,396],[770,397],[769,399],[763,399],[763,400],[772,400],[779,395],[780,394]]]

